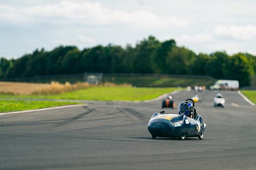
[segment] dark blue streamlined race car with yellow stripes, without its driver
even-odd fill
[[[192,100],[192,99],[187,99]],[[186,101],[187,101],[186,100]],[[194,101],[193,107],[194,107]],[[148,130],[152,137],[179,137],[184,140],[185,137],[198,137],[203,139],[203,131],[206,128],[206,124],[203,123],[203,119],[200,115],[197,115],[195,119],[186,115],[165,114],[165,111],[154,113],[149,120]]]

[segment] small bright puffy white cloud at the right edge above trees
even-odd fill
[[[256,37],[256,26],[218,25],[215,29],[215,34],[240,40],[252,40]]]

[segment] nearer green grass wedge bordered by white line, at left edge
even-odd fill
[[[42,109],[53,106],[61,105],[74,105],[83,104],[77,102],[58,102],[58,101],[35,101],[35,100],[0,100],[0,113],[21,111],[21,110],[33,110]]]

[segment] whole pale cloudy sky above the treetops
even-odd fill
[[[0,0],[0,57],[153,35],[195,53],[256,55],[255,0]]]

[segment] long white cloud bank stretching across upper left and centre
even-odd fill
[[[187,26],[187,20],[175,16],[158,16],[149,10],[111,10],[98,2],[60,1],[56,4],[16,8],[0,5],[0,21],[15,24],[47,23],[77,25],[123,25],[124,27],[156,29]]]

